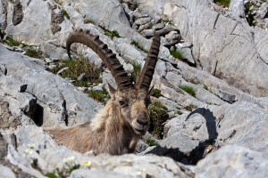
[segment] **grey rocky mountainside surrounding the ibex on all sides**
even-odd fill
[[[268,177],[266,1],[0,2],[0,177]],[[155,31],[162,36],[153,79],[161,94],[152,99],[168,118],[136,154],[83,155],[43,130],[84,123],[103,107],[63,71],[50,72],[68,58],[76,28],[99,35],[130,73]],[[85,46],[72,51],[103,67]],[[108,70],[101,77],[90,90],[115,85]]]

